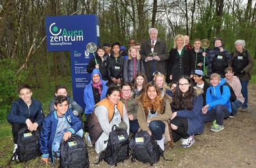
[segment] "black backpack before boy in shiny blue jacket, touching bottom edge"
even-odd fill
[[[86,143],[76,134],[60,142],[60,168],[90,167]]]

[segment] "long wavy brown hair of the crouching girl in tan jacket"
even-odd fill
[[[148,97],[147,91],[148,88],[154,87],[156,89],[157,96],[154,100],[154,103],[151,102],[151,99]],[[145,110],[146,117],[148,116],[148,111],[157,111],[160,114],[163,114],[163,108],[164,108],[164,101],[161,97],[159,88],[157,87],[156,83],[154,81],[148,82],[147,88],[143,92],[143,95],[141,96],[141,103],[143,105],[143,109]]]

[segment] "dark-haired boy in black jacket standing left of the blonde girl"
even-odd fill
[[[121,84],[123,80],[123,70],[125,57],[120,53],[120,43],[115,42],[112,44],[112,50],[109,57],[108,65],[108,78],[110,79],[110,84]],[[110,86],[109,84],[109,86]]]

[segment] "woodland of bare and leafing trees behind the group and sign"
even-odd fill
[[[217,36],[230,52],[237,39],[245,40],[256,57],[255,0],[0,0],[0,122],[6,122],[20,84],[33,87],[45,112],[56,84],[67,84],[72,93],[70,54],[47,52],[45,17],[82,14],[99,16],[101,44],[127,47],[130,38],[143,42],[156,27],[168,49],[177,34],[188,34],[191,45],[195,38],[207,38],[210,48]]]

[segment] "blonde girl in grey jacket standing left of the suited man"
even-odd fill
[[[144,72],[144,66],[140,60],[140,52],[135,46],[130,47],[128,59],[124,62],[124,82],[132,82],[136,72]]]

